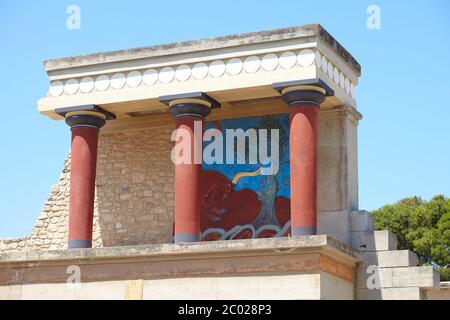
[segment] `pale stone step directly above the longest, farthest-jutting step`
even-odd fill
[[[364,252],[361,257],[363,261],[359,265],[360,269],[365,269],[368,266],[393,268],[415,267],[417,265],[417,255],[411,250]]]

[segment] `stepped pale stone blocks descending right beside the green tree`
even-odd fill
[[[356,276],[358,300],[423,300],[427,290],[439,290],[439,271],[417,266],[410,250],[397,250],[397,236],[375,231],[367,211],[350,215],[350,243],[360,252],[362,263]]]

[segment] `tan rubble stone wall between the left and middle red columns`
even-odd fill
[[[170,241],[175,205],[172,130],[101,136],[97,203],[104,246]]]

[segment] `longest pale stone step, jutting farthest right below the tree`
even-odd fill
[[[360,289],[439,286],[439,271],[431,266],[359,269],[356,275],[356,287]]]

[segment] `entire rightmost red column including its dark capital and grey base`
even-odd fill
[[[320,79],[274,83],[272,87],[289,105],[291,235],[315,235],[319,109],[334,92]]]

